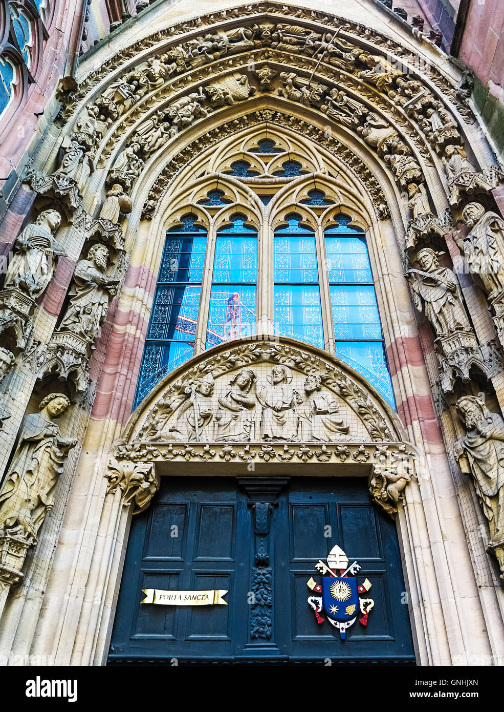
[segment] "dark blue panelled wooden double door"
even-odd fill
[[[307,599],[338,544],[372,583],[345,641]],[[227,605],[141,604],[142,589],[227,590]],[[414,664],[395,524],[365,478],[164,477],[129,536],[109,664]]]

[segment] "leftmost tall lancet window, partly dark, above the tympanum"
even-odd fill
[[[182,222],[166,234],[135,407],[194,353],[206,234],[195,226],[195,216],[185,216]]]

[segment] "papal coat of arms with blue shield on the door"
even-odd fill
[[[338,628],[341,639],[346,637],[346,630],[355,623],[359,616],[362,625],[368,624],[368,615],[375,602],[366,597],[371,588],[371,583],[365,579],[358,584],[355,574],[360,571],[356,561],[348,565],[348,557],[339,546],[333,546],[327,557],[327,565],[319,561],[315,565],[322,574],[321,583],[316,583],[311,578],[307,585],[316,596],[310,596],[309,606],[315,611],[317,623],[321,624],[325,618],[321,611],[327,614],[328,621]]]

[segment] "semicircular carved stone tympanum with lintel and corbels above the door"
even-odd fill
[[[258,336],[195,356],[156,385],[114,448],[107,492],[139,513],[160,475],[201,473],[202,463],[209,475],[368,476],[373,500],[395,515],[416,458],[397,415],[351,367]]]

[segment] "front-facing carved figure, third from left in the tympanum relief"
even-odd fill
[[[297,440],[298,417],[294,389],[289,385],[292,374],[284,365],[272,368],[268,384],[257,383],[257,399],[262,405],[262,439]]]

